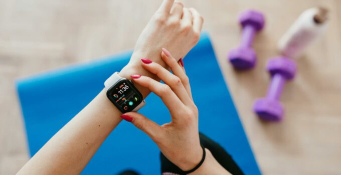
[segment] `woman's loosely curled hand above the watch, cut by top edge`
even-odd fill
[[[138,37],[130,61],[138,61],[140,57],[154,61],[160,58],[162,47],[179,60],[199,41],[203,22],[204,18],[195,8],[186,8],[177,0],[163,0]]]

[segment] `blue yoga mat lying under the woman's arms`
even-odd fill
[[[98,94],[104,80],[120,70],[130,55],[131,51],[120,53],[17,81],[31,156]],[[207,33],[184,62],[199,108],[200,131],[226,148],[245,174],[260,174]],[[167,108],[153,93],[139,112],[159,124],[170,121]],[[156,144],[131,123],[122,121],[82,174],[116,174],[124,169],[160,174]]]

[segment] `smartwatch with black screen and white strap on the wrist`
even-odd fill
[[[123,113],[137,111],[145,104],[131,80],[119,76],[118,72],[105,80],[104,86],[109,100]]]

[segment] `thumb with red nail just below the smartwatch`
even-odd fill
[[[134,124],[137,128],[149,135],[151,139],[162,134],[163,129],[160,125],[140,113],[127,112],[122,114],[121,117]]]

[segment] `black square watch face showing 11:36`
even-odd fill
[[[122,79],[114,84],[107,91],[107,96],[123,113],[132,111],[143,100],[141,93],[127,79]]]

